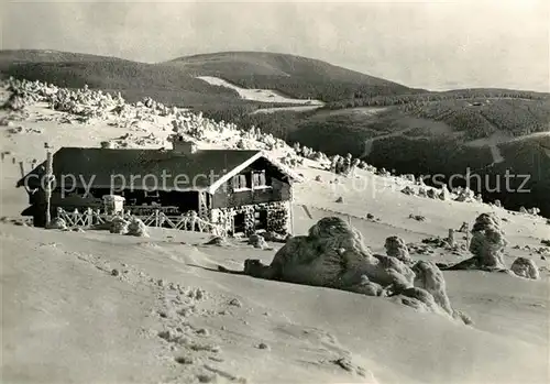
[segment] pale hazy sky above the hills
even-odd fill
[[[413,87],[550,90],[550,0],[3,4],[6,50],[141,62],[268,51]]]

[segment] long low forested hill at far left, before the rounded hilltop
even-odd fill
[[[150,97],[175,106],[240,103],[229,88],[211,86],[174,67],[136,63],[117,57],[56,51],[1,51],[3,76],[48,81],[62,87],[120,91],[130,101]]]

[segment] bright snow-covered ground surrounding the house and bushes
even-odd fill
[[[167,145],[172,118],[136,110],[129,114],[142,117],[136,123],[114,114],[80,123],[38,103],[22,121],[0,127],[0,216],[26,207],[24,190],[14,188],[18,163],[30,171],[34,158],[42,162],[44,142],[54,149],[98,146],[130,133],[123,140],[129,146]],[[0,119],[7,114],[0,111]],[[240,140],[233,131],[208,132],[201,145],[233,146]],[[2,382],[548,382],[550,255],[542,260],[535,252],[550,238],[544,219],[407,196],[399,191],[407,182],[366,171],[339,177],[338,184],[311,161],[297,172],[306,182],[295,193],[296,234],[322,217],[340,216],[374,252],[384,253],[389,235],[419,243],[495,210],[507,220],[508,266],[519,255],[531,257],[542,278],[444,272],[453,306],[474,321],[469,327],[380,297],[216,271],[218,264],[242,268],[248,257],[268,263],[279,244],[267,251],[239,240],[205,245],[206,234],[174,230],[132,238],[0,223]],[[343,202],[334,202],[338,197]],[[469,255],[435,249],[411,256],[457,262]]]

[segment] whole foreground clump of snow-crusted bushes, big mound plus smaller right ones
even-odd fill
[[[246,260],[254,277],[331,287],[369,296],[391,296],[418,310],[455,316],[437,266],[409,267],[397,257],[372,254],[355,228],[337,217],[319,220],[307,235],[289,238],[270,265]]]

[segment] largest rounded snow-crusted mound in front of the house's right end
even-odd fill
[[[344,288],[369,282],[388,286],[397,281],[413,285],[414,273],[397,259],[384,263],[373,256],[355,228],[338,217],[327,217],[297,235],[275,254],[270,266],[245,262],[245,272],[256,277],[275,278],[314,286]]]

